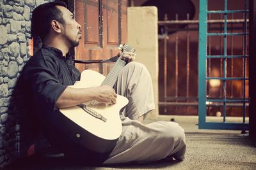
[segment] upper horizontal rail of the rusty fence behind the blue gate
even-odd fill
[[[179,25],[179,24],[199,24],[200,20],[159,20],[158,25]],[[225,20],[207,20],[208,24],[221,24],[224,23]],[[227,24],[239,24],[243,23],[243,19],[235,19],[235,20],[227,20]],[[249,22],[249,20],[246,20]]]

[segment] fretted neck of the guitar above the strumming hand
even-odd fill
[[[120,73],[120,71],[122,71],[125,64],[126,62],[124,60],[121,60],[119,57],[119,59],[116,60],[113,69],[109,72],[105,80],[102,82],[102,85],[109,85],[113,87],[115,85],[118,74]]]

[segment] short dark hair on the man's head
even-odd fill
[[[65,24],[63,13],[56,8],[57,5],[67,8],[67,4],[62,1],[41,4],[35,8],[31,18],[31,34],[33,36],[39,36],[44,40],[51,29],[52,20]]]

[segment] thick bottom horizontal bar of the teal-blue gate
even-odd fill
[[[228,123],[228,122],[205,122],[198,124],[199,129],[223,129],[223,130],[242,130],[248,131],[249,124],[246,123]]]

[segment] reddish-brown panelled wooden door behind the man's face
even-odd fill
[[[74,13],[82,31],[75,59],[109,59],[119,52],[118,45],[127,41],[127,0],[77,0]],[[103,64],[103,74],[112,65]],[[97,64],[76,64],[76,67],[80,71],[88,68],[99,71]]]

